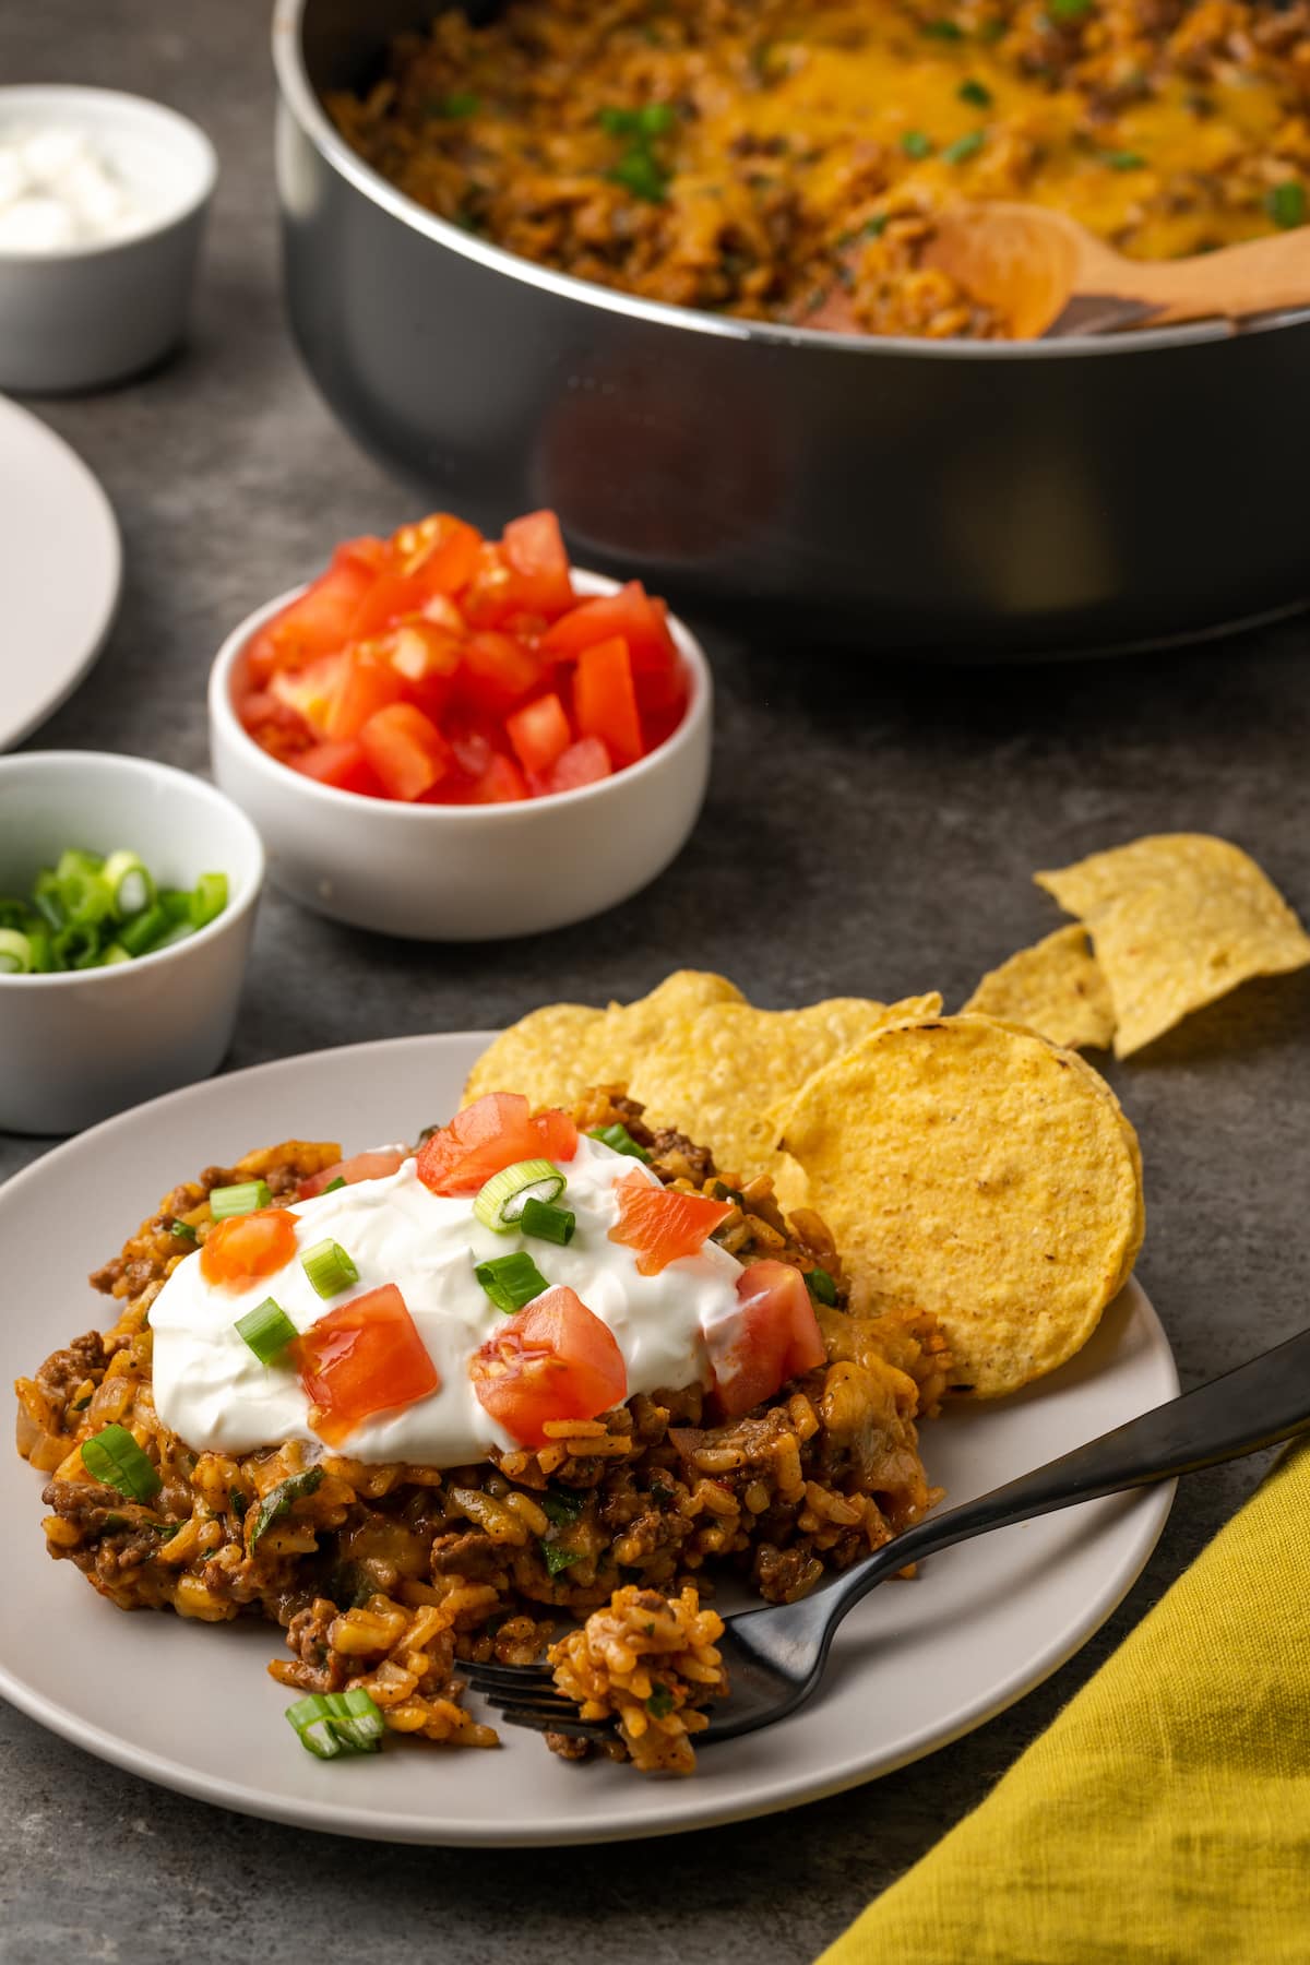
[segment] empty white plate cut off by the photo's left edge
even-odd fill
[[[77,452],[0,397],[0,751],[53,715],[100,654],[122,544]]]

